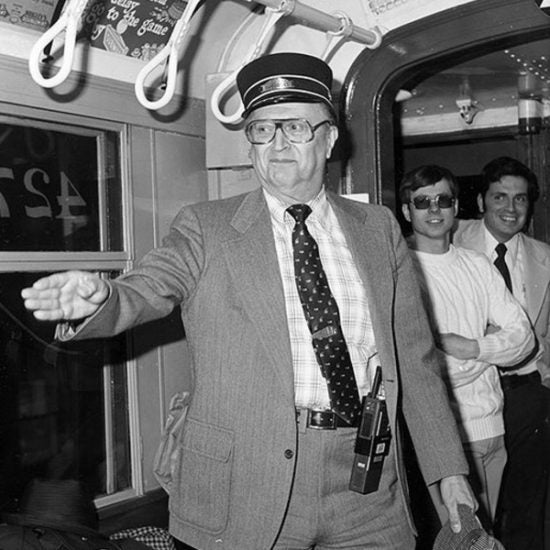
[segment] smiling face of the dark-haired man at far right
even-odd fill
[[[489,185],[485,200],[478,196],[485,225],[498,242],[510,240],[527,222],[527,181],[520,176],[503,176]]]

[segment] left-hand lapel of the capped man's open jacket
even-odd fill
[[[281,384],[294,396],[294,374],[285,298],[275,240],[261,189],[245,196],[225,242],[233,285]]]

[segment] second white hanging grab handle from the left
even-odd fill
[[[189,23],[195,12],[195,8],[201,0],[189,0],[183,15],[174,25],[172,34],[168,43],[153,57],[138,73],[134,90],[137,100],[145,107],[156,111],[167,105],[174,97],[176,90],[176,79],[178,74],[178,50],[189,30]],[[168,58],[168,67],[166,71],[166,88],[162,96],[156,101],[150,101],[145,97],[146,78]]]

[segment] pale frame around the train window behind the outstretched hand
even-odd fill
[[[133,235],[133,205],[132,193],[130,188],[130,139],[128,124],[122,122],[112,122],[103,119],[93,119],[90,117],[77,115],[73,113],[53,112],[46,109],[38,109],[34,107],[26,107],[23,105],[13,105],[0,101],[0,121],[4,119],[8,122],[32,126],[33,122],[37,124],[44,123],[44,127],[52,128],[57,131],[70,132],[74,129],[75,133],[82,130],[85,134],[87,131],[91,135],[101,135],[103,132],[114,132],[118,135],[119,147],[119,177],[120,177],[120,198],[121,198],[121,251],[92,251],[92,252],[71,252],[71,251],[45,251],[45,252],[28,252],[28,251],[10,251],[3,252],[0,258],[0,273],[9,272],[27,272],[36,271],[66,271],[70,269],[77,270],[92,270],[95,272],[125,272],[131,269],[134,261],[134,235]],[[28,122],[27,122],[28,121]],[[101,139],[101,138],[99,138]],[[98,168],[101,173],[102,158],[98,155]],[[104,160],[104,159],[103,159]],[[105,182],[99,182],[99,212],[101,216],[105,216]],[[100,220],[100,247],[105,246],[104,228],[106,219]],[[132,339],[127,338],[127,346],[131,351]],[[130,356],[132,354],[130,353]],[[106,364],[103,367],[103,390],[104,390],[104,412],[105,412],[105,441],[110,439],[111,429],[110,420],[111,406],[108,401],[110,395],[110,372],[113,365]],[[131,357],[124,364],[126,382],[127,382],[127,399],[128,399],[128,426],[130,438],[130,475],[131,486],[112,494],[102,495],[96,499],[96,506],[101,508],[113,503],[128,500],[129,498],[142,495],[144,493],[143,465],[142,465],[142,449],[141,449],[141,431],[139,417],[139,399],[138,399],[138,377],[137,377],[137,361]],[[107,459],[107,492],[114,486],[111,483],[111,478],[114,475],[109,471],[109,453],[108,445],[106,445]]]

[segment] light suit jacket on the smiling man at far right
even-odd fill
[[[485,254],[485,235],[483,220],[459,220],[453,242]],[[527,315],[542,348],[537,368],[545,385],[550,386],[550,246],[524,233],[518,237],[525,251],[523,269]]]

